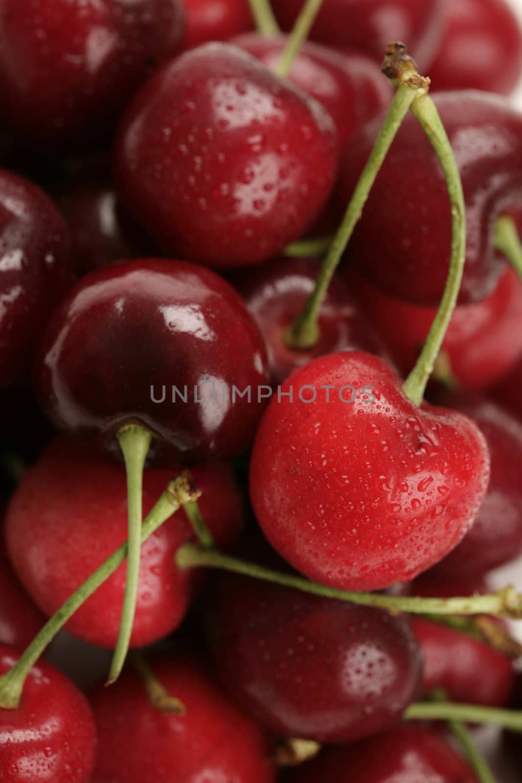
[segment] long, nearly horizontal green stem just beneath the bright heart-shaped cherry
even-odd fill
[[[506,587],[489,595],[473,595],[455,598],[424,598],[417,596],[383,595],[380,593],[355,593],[348,590],[336,590],[334,587],[309,582],[302,576],[279,573],[256,563],[247,563],[236,557],[230,557],[217,550],[203,550],[193,543],[185,543],[176,553],[178,568],[221,568],[243,576],[252,576],[302,590],[305,593],[339,601],[351,601],[363,606],[376,606],[390,612],[412,612],[430,615],[498,615],[502,617],[522,618],[522,595],[513,587]]]

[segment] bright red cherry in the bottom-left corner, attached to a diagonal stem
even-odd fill
[[[0,646],[0,673],[18,660]],[[85,697],[49,663],[34,666],[16,709],[0,709],[0,780],[86,783],[95,755],[95,724]]]

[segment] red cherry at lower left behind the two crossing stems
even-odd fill
[[[146,469],[144,515],[178,472],[175,466]],[[203,492],[200,509],[212,535],[221,546],[229,546],[243,516],[232,471],[214,462],[194,467],[193,477]],[[17,576],[41,610],[52,615],[127,539],[124,467],[92,445],[57,440],[23,474],[6,514],[5,532]],[[200,577],[175,568],[174,556],[191,538],[181,509],[143,543],[132,646],[151,644],[182,621]],[[125,576],[121,565],[71,617],[67,630],[92,644],[113,647]]]

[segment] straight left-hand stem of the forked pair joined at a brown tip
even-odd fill
[[[332,244],[329,246],[326,258],[322,262],[322,267],[315,282],[315,288],[308,297],[303,312],[297,316],[297,319],[286,333],[286,344],[290,348],[311,348],[319,340],[319,313],[326,291],[348,241],[352,233],[354,233],[358,219],[361,217],[362,208],[368,200],[369,192],[380,171],[384,158],[387,156],[391,143],[401,127],[401,122],[405,115],[408,114],[409,107],[420,89],[422,88],[419,85],[405,84],[401,85],[395,93],[383,127],[380,129],[373,150],[355,186],[347,211],[344,213],[344,218],[333,238]]]

